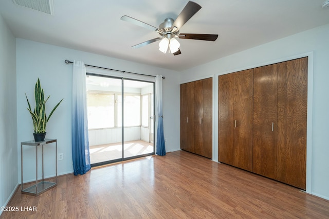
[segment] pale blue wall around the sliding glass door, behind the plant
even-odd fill
[[[33,98],[33,89],[36,79],[39,77],[41,85],[45,90],[45,95],[50,95],[47,102],[48,110],[57,102],[64,98],[62,104],[53,113],[49,123],[47,124],[46,138],[58,139],[58,153],[64,154],[64,160],[58,161],[58,174],[71,173],[71,84],[72,84],[72,65],[65,64],[64,60],[79,60],[85,64],[118,69],[123,71],[131,71],[142,74],[166,76],[163,80],[163,111],[165,118],[164,133],[168,139],[166,151],[179,150],[179,78],[178,73],[166,69],[141,65],[137,63],[127,62],[120,59],[101,56],[97,54],[67,49],[63,47],[52,46],[48,44],[36,43],[25,39],[16,39],[16,56],[17,56],[17,148],[20,148],[20,142],[32,140],[33,128],[32,120],[26,109],[27,103],[25,92],[30,99]],[[93,69],[87,69],[93,72]],[[98,69],[95,69],[97,72]],[[101,72],[101,71],[100,71]],[[100,73],[98,72],[98,73]],[[111,72],[103,71],[104,74]],[[125,77],[136,78],[136,75],[130,76],[125,73]],[[149,77],[150,78],[150,77]],[[152,77],[154,81],[154,78]],[[46,110],[47,111],[47,110]],[[49,113],[49,112],[48,112]],[[17,153],[20,157],[20,151]],[[53,175],[54,171],[52,155],[45,155],[45,177]],[[34,167],[34,150],[28,149],[24,151],[24,179],[30,181],[35,177]],[[49,161],[49,162],[48,162]],[[19,182],[21,181],[19,161]],[[39,162],[40,163],[40,162]]]

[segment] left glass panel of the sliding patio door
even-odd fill
[[[117,121],[122,120],[118,114],[122,80],[87,75],[86,88],[90,163],[101,165],[121,161],[122,129]]]

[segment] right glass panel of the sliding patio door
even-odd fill
[[[154,153],[150,140],[149,95],[153,94],[154,83],[123,80],[123,157],[132,158]],[[145,106],[147,95],[147,106]],[[144,109],[144,108],[147,109]],[[152,107],[153,108],[153,107]],[[144,116],[147,122],[144,124]]]

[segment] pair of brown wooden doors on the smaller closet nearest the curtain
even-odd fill
[[[180,149],[212,158],[212,77],[180,85]]]

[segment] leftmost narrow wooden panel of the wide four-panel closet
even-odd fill
[[[234,164],[234,73],[218,76],[218,161]]]

